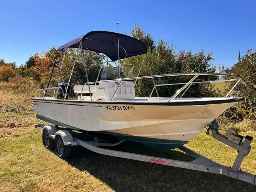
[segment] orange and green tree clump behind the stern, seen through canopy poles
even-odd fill
[[[64,75],[64,81],[68,82],[70,78],[70,73],[72,71],[72,67],[74,64],[74,59],[76,57],[77,51],[78,51],[78,57],[76,58],[76,64],[74,66],[74,71],[72,73],[72,78],[70,80],[71,87],[76,84],[84,84],[87,82],[86,73],[84,70],[84,64],[82,60],[82,53],[81,53],[81,50],[78,50],[76,48],[69,48],[65,54],[64,61],[62,64],[62,73]],[[62,62],[63,56],[64,56],[64,52],[60,52],[59,53],[60,62]],[[103,64],[103,60],[105,56],[103,54],[99,54],[97,52],[92,52],[88,50],[84,50],[84,56],[86,60],[86,67],[88,70],[89,81],[90,82],[95,81],[98,76],[100,67]],[[52,68],[55,64],[50,85],[56,86],[58,82],[63,82],[62,76],[60,74],[60,67],[58,64],[58,60],[55,62],[55,58],[56,58],[55,48],[50,48],[48,52],[42,52],[42,54],[37,53],[36,56],[31,56],[24,66],[25,76],[26,76],[26,72],[30,71],[30,76],[32,76],[34,80],[39,82],[42,88],[45,88],[49,82],[50,74],[52,73]],[[30,65],[33,65],[33,61],[34,61],[34,66],[30,66]],[[28,68],[28,66],[30,66],[30,68]]]

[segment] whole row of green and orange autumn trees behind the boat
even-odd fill
[[[146,60],[144,61],[144,66],[140,72],[140,76],[150,75],[147,63],[150,65],[153,75],[184,72],[215,72],[215,67],[212,67],[210,64],[210,61],[214,60],[212,52],[205,54],[204,50],[201,50],[200,52],[192,54],[192,51],[186,52],[185,50],[176,49],[173,44],[169,44],[163,39],[156,42],[149,33],[144,32],[142,28],[137,25],[130,31],[130,36],[141,40],[148,48],[148,53],[146,55]],[[75,84],[84,84],[86,82],[82,55],[80,54],[80,50],[73,48],[68,50],[63,60],[62,72],[64,74],[64,80],[67,82],[70,78],[70,72],[77,51],[78,56],[70,82],[71,86],[74,86]],[[106,57],[103,54],[88,50],[85,50],[84,52],[89,81],[92,82],[96,80],[100,67],[104,61],[106,61]],[[64,52],[60,53],[60,62],[62,62],[63,56]],[[134,64],[134,76],[137,76],[143,59],[144,55],[126,59],[126,63]],[[56,60],[55,48],[50,48],[48,52],[42,52],[41,54],[36,53],[31,56],[24,65],[19,67],[17,67],[15,63],[5,63],[3,59],[0,60],[0,80],[2,81],[8,81],[9,78],[19,76],[20,78],[30,78],[37,82],[41,88],[46,88],[51,73],[52,79],[50,86],[56,86],[58,82],[62,82],[60,67],[58,65],[58,60]],[[242,78],[242,81],[234,89],[237,96],[246,97],[246,101],[240,105],[239,108],[255,111],[256,52],[249,50],[234,67],[228,70],[228,73]],[[156,84],[179,83],[188,82],[191,78],[192,76],[176,76],[156,78],[155,81]],[[200,76],[197,81],[215,80],[216,78],[217,77],[214,76]],[[228,88],[231,88],[233,85],[234,83],[232,82],[227,83]],[[153,87],[152,79],[138,80],[135,87],[136,96],[149,96]],[[158,87],[158,93],[159,96],[170,97],[181,87],[182,85],[160,86]],[[184,97],[224,96],[227,92],[228,89],[224,92],[220,92],[218,88],[210,83],[193,84]],[[153,96],[156,96],[156,92],[153,93]]]

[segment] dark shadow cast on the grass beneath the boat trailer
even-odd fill
[[[192,160],[190,156],[179,151],[158,150],[128,141],[111,149],[176,160]],[[81,171],[89,172],[118,192],[256,191],[256,186],[226,176],[104,156],[80,146],[74,148],[72,157],[67,162]]]

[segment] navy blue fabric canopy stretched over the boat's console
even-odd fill
[[[57,53],[65,48],[79,48],[80,42],[82,42],[83,49],[103,53],[112,61],[116,61],[118,60],[118,38],[120,59],[147,52],[146,45],[133,37],[109,31],[91,31],[58,47]]]

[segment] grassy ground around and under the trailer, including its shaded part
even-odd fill
[[[34,128],[43,122],[36,119],[29,98],[29,91],[12,94],[0,90],[0,192],[256,191],[256,186],[226,176],[103,156],[80,147],[74,148],[72,158],[62,160],[43,147],[42,134]],[[256,138],[255,122],[222,125],[227,126]],[[231,166],[237,154],[205,132],[186,146],[225,166]],[[115,149],[190,160],[178,150],[156,150],[131,142]],[[242,170],[256,174],[256,140]]]

